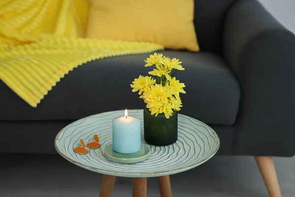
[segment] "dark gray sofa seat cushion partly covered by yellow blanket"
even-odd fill
[[[234,124],[239,84],[221,57],[206,52],[162,53],[179,59],[185,68],[176,76],[185,83],[187,93],[181,95],[180,113],[207,124]],[[61,79],[37,108],[0,82],[0,121],[76,120],[105,111],[144,108],[143,100],[131,91],[130,83],[152,69],[144,67],[148,55],[107,58],[80,66]]]

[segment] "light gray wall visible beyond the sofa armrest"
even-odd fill
[[[295,33],[295,0],[259,0],[286,28]]]

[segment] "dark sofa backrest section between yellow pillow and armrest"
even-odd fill
[[[223,22],[237,0],[195,0],[195,30],[201,51],[222,54]]]

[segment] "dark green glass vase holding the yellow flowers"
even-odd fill
[[[177,111],[168,119],[165,114],[151,115],[148,108],[144,110],[144,133],[147,143],[166,146],[177,140]]]

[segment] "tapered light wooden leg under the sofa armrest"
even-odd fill
[[[255,160],[266,184],[269,197],[282,197],[272,158],[256,156]]]

